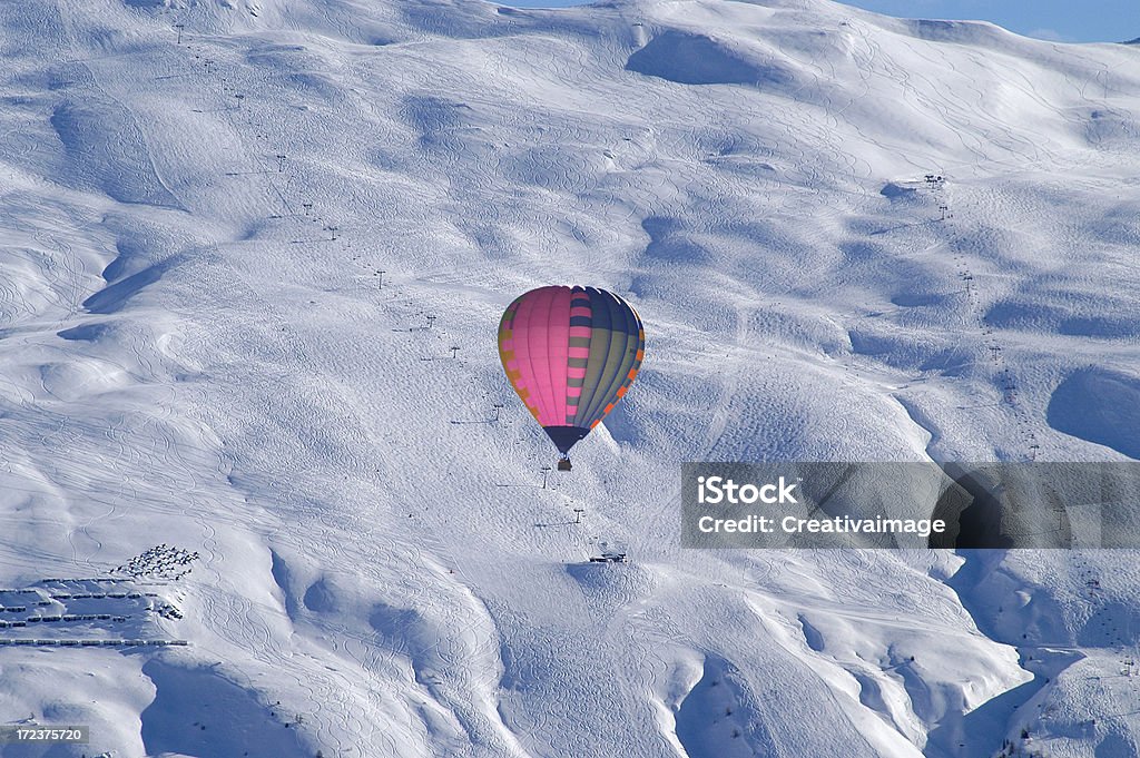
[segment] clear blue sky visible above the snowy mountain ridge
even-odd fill
[[[519,8],[584,5],[575,0],[499,0]],[[846,5],[910,18],[970,18],[1064,42],[1122,42],[1140,36],[1140,0],[850,0]]]

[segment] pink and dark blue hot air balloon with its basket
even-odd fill
[[[594,287],[539,287],[507,305],[499,359],[570,471],[570,448],[625,397],[645,354],[629,303]]]

